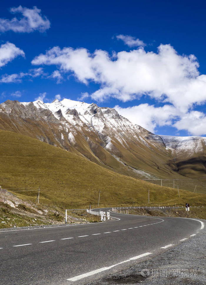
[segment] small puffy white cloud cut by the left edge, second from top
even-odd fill
[[[0,46],[0,68],[19,55],[23,57],[25,56],[24,51],[17,48],[16,45],[12,44],[11,42],[2,44]]]

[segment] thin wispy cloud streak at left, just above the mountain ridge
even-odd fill
[[[35,78],[38,76],[45,75],[43,68],[32,68],[29,69],[28,72],[20,72],[20,73],[13,73],[13,74],[4,74],[0,78],[0,83],[20,83],[22,82],[23,77]]]

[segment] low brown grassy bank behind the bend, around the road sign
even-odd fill
[[[187,211],[184,208],[176,209],[131,209],[129,214],[153,217],[182,217],[187,218]],[[189,218],[206,219],[206,208],[191,208]]]

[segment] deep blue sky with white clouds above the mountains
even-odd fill
[[[0,103],[95,102],[156,134],[205,136],[205,12],[203,1],[1,3]]]

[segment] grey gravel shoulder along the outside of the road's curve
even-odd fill
[[[205,285],[205,237],[206,228],[164,253],[87,285]]]

